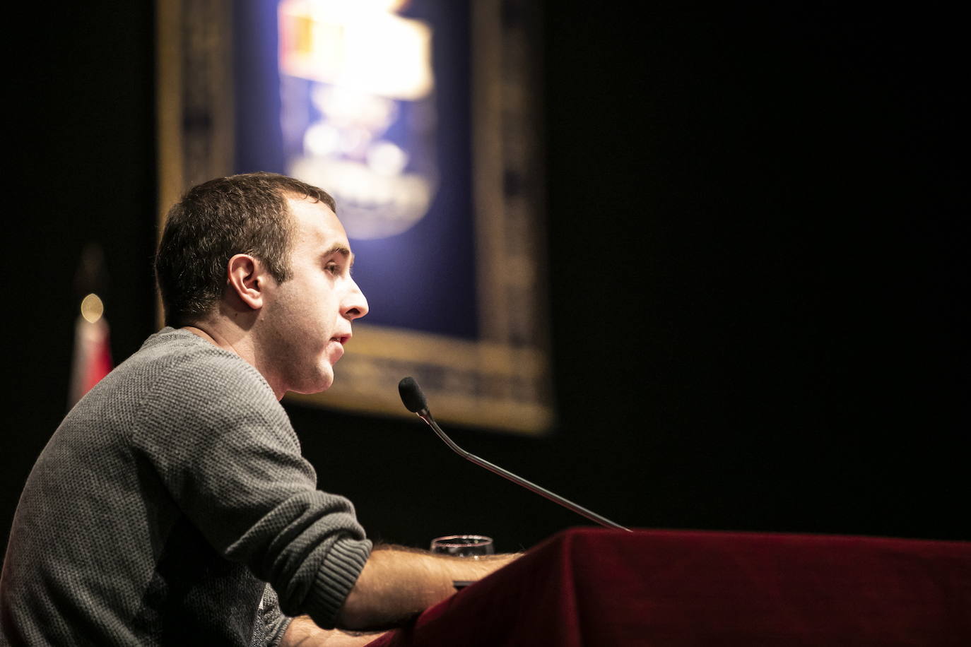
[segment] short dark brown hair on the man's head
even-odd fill
[[[184,326],[212,309],[235,254],[252,254],[279,282],[289,278],[288,197],[312,198],[336,212],[325,191],[275,173],[211,179],[185,192],[165,218],[155,254],[167,325]]]

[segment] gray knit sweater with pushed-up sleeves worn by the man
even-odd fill
[[[0,579],[12,644],[275,644],[334,619],[371,550],[247,362],[166,328],[71,410]],[[264,608],[265,607],[265,608]],[[255,635],[254,635],[255,633]],[[258,643],[255,643],[258,644]]]

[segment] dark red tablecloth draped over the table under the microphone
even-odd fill
[[[971,543],[577,529],[369,647],[971,645]]]

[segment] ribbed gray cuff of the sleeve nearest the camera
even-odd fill
[[[338,539],[331,546],[307,596],[307,613],[319,627],[334,629],[337,612],[354,588],[371,547],[370,539]]]

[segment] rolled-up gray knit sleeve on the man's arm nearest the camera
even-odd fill
[[[371,542],[351,501],[317,490],[255,369],[221,352],[175,362],[140,407],[132,445],[206,539],[273,586],[286,615],[334,627]]]

